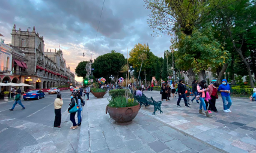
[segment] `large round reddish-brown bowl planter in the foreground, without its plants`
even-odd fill
[[[128,108],[111,108],[106,106],[106,114],[109,114],[109,116],[118,123],[126,123],[132,121],[133,118],[136,117],[139,109],[139,104]]]

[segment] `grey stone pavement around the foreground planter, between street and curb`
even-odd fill
[[[78,152],[219,152],[207,143],[157,121],[151,114],[139,112],[131,124],[118,125],[105,112],[107,98],[108,94],[103,99],[91,96],[86,102],[82,112]]]

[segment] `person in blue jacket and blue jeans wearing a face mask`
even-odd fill
[[[230,106],[232,105],[232,100],[230,97],[230,85],[227,79],[222,79],[222,84],[219,85],[218,91],[221,91],[224,112],[231,112]]]

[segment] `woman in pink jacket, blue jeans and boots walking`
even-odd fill
[[[206,88],[206,81],[205,80],[202,80],[199,82],[199,84],[197,85],[197,91],[199,93],[199,96],[200,96],[200,106],[199,106],[199,113],[200,114],[204,114],[202,108],[204,108],[204,111],[206,112],[206,117],[211,117],[212,115],[209,114],[209,112],[207,111],[206,109],[206,103],[204,102],[204,99],[206,99],[206,92],[208,91],[209,89]]]

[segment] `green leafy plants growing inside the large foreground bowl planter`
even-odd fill
[[[108,106],[111,108],[126,108],[138,105],[138,102],[135,99],[128,98],[128,100],[126,100],[126,97],[123,96],[112,97],[111,99],[108,99],[108,101]]]

